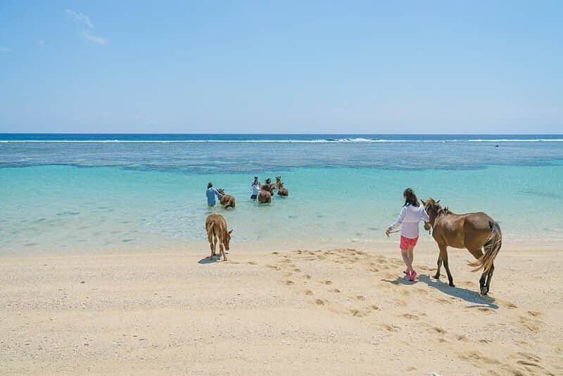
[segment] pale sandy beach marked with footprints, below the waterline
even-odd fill
[[[484,298],[467,251],[429,277],[434,246],[415,283],[373,249],[2,257],[0,370],[562,375],[561,254],[502,249]]]

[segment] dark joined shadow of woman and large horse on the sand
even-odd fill
[[[463,299],[468,303],[472,303],[472,305],[467,306],[466,308],[491,308],[491,309],[498,309],[498,306],[494,303],[495,299],[491,298],[490,296],[483,296],[478,292],[473,290],[464,289],[463,287],[451,287],[449,284],[442,282],[441,280],[435,280],[434,278],[430,277],[429,275],[418,275],[416,281],[411,282],[405,277],[397,277],[396,280],[382,280],[384,282],[389,282],[392,284],[415,284],[417,282],[426,283],[429,287],[437,289],[439,292],[453,296],[455,298]]]

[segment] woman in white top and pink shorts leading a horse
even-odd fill
[[[405,274],[409,276],[409,280],[414,281],[417,277],[417,272],[412,268],[412,251],[415,249],[419,235],[419,222],[430,220],[428,214],[424,210],[424,206],[420,205],[415,192],[407,188],[403,192],[405,198],[405,206],[401,209],[399,217],[395,222],[389,226],[385,234],[389,236],[391,231],[400,226],[400,254],[403,256],[403,261],[407,265]]]

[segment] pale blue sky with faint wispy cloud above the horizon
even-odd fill
[[[563,132],[562,1],[0,0],[0,132]]]

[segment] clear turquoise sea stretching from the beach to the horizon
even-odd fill
[[[289,197],[250,201],[254,174],[281,175]],[[209,181],[234,210],[206,206]],[[203,242],[214,211],[236,242],[369,244],[405,187],[486,211],[509,243],[563,240],[558,136],[0,134],[0,252]]]

